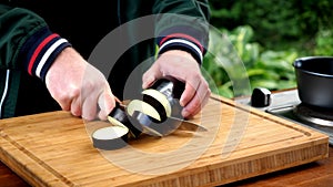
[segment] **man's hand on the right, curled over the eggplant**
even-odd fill
[[[198,114],[208,103],[211,91],[194,58],[190,53],[179,50],[164,52],[143,74],[142,87],[147,89],[155,80],[167,75],[185,83],[185,90],[180,98],[180,104],[184,107],[183,117],[192,117]]]

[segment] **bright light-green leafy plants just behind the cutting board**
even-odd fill
[[[269,90],[282,90],[295,86],[295,75],[292,66],[297,56],[295,51],[263,51],[259,43],[251,42],[253,30],[249,25],[239,27],[233,31],[223,30],[221,33],[230,39],[230,44],[234,46],[234,51],[230,50],[226,41],[219,39],[221,35],[211,33],[211,45],[203,62],[203,69],[214,81],[214,86],[218,87],[215,94],[225,97],[249,94],[246,90],[238,91],[235,94],[236,91],[233,85],[238,77],[249,79],[251,87],[261,86]],[[229,50],[225,51],[225,49]],[[221,63],[221,58],[224,61],[231,61],[231,66]],[[236,64],[232,66],[232,63],[238,63],[238,59],[244,65],[245,72],[236,71],[240,69]]]

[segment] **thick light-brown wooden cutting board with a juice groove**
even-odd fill
[[[110,125],[57,111],[0,121],[0,158],[32,186],[218,186],[324,159],[329,137],[213,95],[193,122],[208,132],[142,135],[100,150]]]

